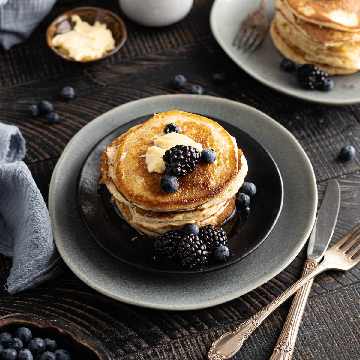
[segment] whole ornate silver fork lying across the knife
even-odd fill
[[[349,231],[342,239],[330,247],[325,253],[324,260],[309,271],[307,275],[298,280],[289,287],[273,302],[260,310],[257,314],[251,316],[234,330],[222,334],[215,340],[208,352],[209,360],[230,359],[243,346],[244,341],[259,327],[259,325],[269,316],[278,306],[296,293],[304,284],[316,275],[326,270],[350,270],[353,266],[360,262],[360,254],[356,257],[356,253],[360,251],[360,243],[356,243],[360,239],[360,233],[356,232],[360,229],[360,223],[354,229]],[[355,235],[355,236],[354,236]],[[355,247],[354,247],[355,246]]]

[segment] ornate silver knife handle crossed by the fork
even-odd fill
[[[319,265],[319,263],[314,260],[305,260],[301,277],[305,276],[317,265]],[[271,355],[270,360],[292,359],[297,333],[299,331],[302,319],[302,314],[304,312],[307,298],[309,297],[313,282],[314,278],[312,278],[308,283],[303,285],[303,287],[295,294],[288,317],[286,318],[283,327],[283,331],[279,336],[278,342],[275,345],[273,355]]]

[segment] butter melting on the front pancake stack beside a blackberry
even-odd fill
[[[145,155],[145,163],[148,167],[149,172],[158,172],[162,174],[165,171],[165,161],[163,161],[162,156],[165,154],[165,151],[174,147],[175,145],[188,145],[192,146],[202,152],[203,147],[200,143],[195,142],[193,139],[190,139],[184,134],[179,134],[178,132],[168,132],[165,135],[160,136],[154,140],[155,146],[150,146]]]

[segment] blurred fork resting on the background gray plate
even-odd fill
[[[241,23],[233,42],[234,46],[239,44],[239,48],[245,46],[247,50],[251,47],[251,51],[254,51],[265,39],[269,29],[269,20],[265,14],[266,2],[267,0],[261,0],[258,8]]]

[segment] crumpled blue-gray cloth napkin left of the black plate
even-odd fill
[[[24,156],[18,127],[0,123],[0,252],[13,258],[6,283],[10,294],[50,280],[65,267],[44,199],[21,161]]]

